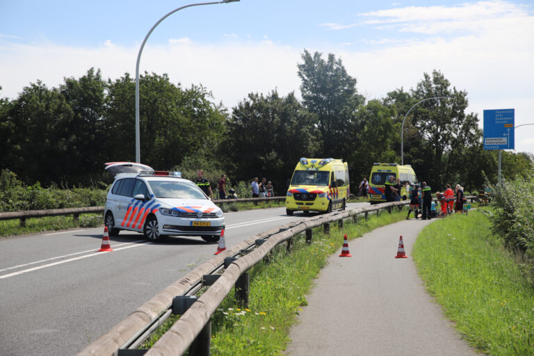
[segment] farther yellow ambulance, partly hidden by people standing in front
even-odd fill
[[[410,194],[406,189],[406,183],[417,184],[417,177],[411,165],[399,165],[397,163],[373,163],[371,176],[369,177],[369,202],[371,204],[383,203],[386,201],[385,181],[389,176],[393,176],[395,181],[400,180],[401,199],[407,199]]]

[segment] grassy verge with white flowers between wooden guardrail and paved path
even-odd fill
[[[322,228],[314,229],[313,241],[305,243],[303,235],[295,239],[291,253],[286,245],[279,245],[270,262],[262,261],[249,270],[250,296],[248,308],[243,309],[229,293],[213,314],[212,355],[280,355],[289,342],[289,330],[303,305],[314,279],[325,266],[327,258],[343,245],[343,234],[356,238],[377,227],[406,218],[406,210],[380,216],[370,216],[343,228],[332,224],[330,234]],[[173,317],[168,327],[177,319]],[[149,348],[165,332],[165,328],[149,339],[141,348]]]

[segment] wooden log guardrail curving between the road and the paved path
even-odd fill
[[[202,283],[203,277],[220,273],[218,279],[202,293],[202,296],[193,302],[193,305],[181,315],[175,325],[150,350],[147,350],[146,353],[145,351],[140,353],[140,355],[143,353],[145,355],[182,355],[199,337],[204,327],[209,323],[209,318],[211,318],[213,312],[223,302],[238,279],[254,264],[264,259],[277,245],[302,232],[306,232],[307,240],[311,241],[314,227],[323,225],[325,231],[329,231],[330,223],[341,222],[351,217],[353,220],[357,220],[359,214],[364,214],[365,218],[367,218],[371,212],[376,211],[378,213],[382,209],[391,211],[393,207],[408,203],[409,201],[405,200],[403,202],[382,203],[346,211],[334,211],[322,216],[307,218],[299,223],[282,225],[252,236],[181,277],[157,296],[145,302],[106,334],[84,348],[78,355],[126,355],[127,353],[122,353],[122,350],[137,348],[148,337],[151,330],[161,325],[170,316],[175,297],[191,296],[197,293],[202,286],[207,286]],[[228,263],[227,260],[225,268],[225,259],[227,257],[238,258],[231,263]],[[207,337],[208,343],[209,339],[211,339],[211,336]],[[195,353],[192,354],[194,355]]]

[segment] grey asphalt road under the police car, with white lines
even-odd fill
[[[225,217],[227,247],[305,218],[283,208]],[[113,252],[97,252],[102,232],[0,238],[0,355],[73,355],[217,249],[196,237],[149,243],[121,232],[111,238]]]

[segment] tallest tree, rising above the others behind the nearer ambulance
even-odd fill
[[[356,79],[348,75],[341,59],[328,54],[327,60],[307,50],[302,54],[304,63],[298,64],[302,79],[302,104],[317,115],[317,128],[322,145],[318,154],[323,157],[343,158],[357,145],[357,137],[349,136],[354,124],[355,110],[364,103],[356,90]]]

